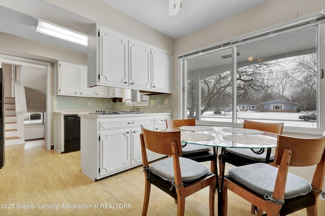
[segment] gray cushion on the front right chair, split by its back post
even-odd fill
[[[272,196],[278,169],[266,163],[255,163],[232,168],[228,174],[238,183],[260,195]],[[288,173],[284,199],[308,194],[312,190],[309,183],[292,173]]]

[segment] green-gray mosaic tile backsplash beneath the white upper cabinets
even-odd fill
[[[53,96],[53,100],[56,100],[56,105],[53,105],[54,111],[125,109],[123,102],[113,103],[111,98]],[[172,109],[173,107],[172,94],[150,95],[151,100],[154,100],[154,105],[141,106],[140,109],[161,110]]]

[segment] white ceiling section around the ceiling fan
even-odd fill
[[[178,39],[268,0],[182,0],[182,8],[175,16],[168,15],[169,0],[101,1],[172,39]]]

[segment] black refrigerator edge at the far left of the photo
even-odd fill
[[[5,164],[5,111],[4,111],[4,74],[2,68],[0,68],[0,169]]]

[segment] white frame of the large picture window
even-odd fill
[[[306,19],[309,20],[309,19]],[[226,49],[231,47],[233,50],[233,54],[237,53],[236,50],[236,45],[242,45],[245,43],[253,43],[253,42],[257,42],[257,41],[262,41],[263,39],[268,37],[268,34],[266,34],[265,32],[273,32],[274,36],[283,34],[283,33],[290,33],[293,32],[295,30],[301,30],[301,29],[306,29],[306,28],[311,28],[311,27],[316,27],[316,35],[317,35],[317,45],[316,45],[316,53],[317,53],[317,71],[320,71],[320,68],[323,68],[325,65],[322,64],[322,62],[320,62],[320,58],[321,58],[321,53],[322,55],[325,55],[325,46],[323,46],[323,44],[321,43],[322,41],[320,41],[321,37],[325,36],[325,21],[324,18],[321,18],[318,21],[315,21],[313,23],[308,22],[306,20],[301,21],[305,22],[304,24],[299,24],[297,26],[297,23],[292,23],[292,24],[281,24],[278,25],[278,28],[280,29],[278,32],[274,33],[274,29],[272,29],[272,27],[264,29],[263,32],[264,33],[255,33],[252,32],[250,34],[247,35],[243,35],[242,39],[241,37],[236,38],[236,40],[238,40],[237,42],[234,40],[234,42],[231,43],[226,43],[226,44],[220,44],[211,48],[205,48],[205,50],[207,50],[205,52],[209,53],[209,52],[217,52],[220,51],[222,49]],[[322,32],[322,34],[321,34]],[[232,41],[232,40],[230,40]],[[223,42],[225,43],[225,42]],[[325,43],[325,41],[324,41]],[[181,91],[181,99],[179,100],[179,114],[181,116],[181,118],[187,118],[187,112],[186,112],[186,106],[187,106],[187,91],[186,91],[186,83],[187,83],[187,70],[186,70],[186,60],[196,57],[198,55],[202,54],[202,50],[201,51],[196,51],[193,52],[191,54],[187,54],[187,55],[180,55],[179,56],[179,71],[180,71],[180,76],[182,77],[182,88],[180,88]],[[233,62],[236,62],[236,55],[233,55]],[[321,65],[322,64],[322,65]],[[233,63],[233,71],[237,71],[236,68],[236,63]],[[236,82],[236,77],[234,76],[234,72],[233,72],[233,83],[237,83]],[[318,127],[297,127],[297,126],[285,126],[284,127],[284,131],[290,131],[290,132],[304,132],[304,133],[309,133],[309,134],[319,134],[322,133],[322,131],[325,129],[325,125],[324,124],[320,124],[321,123],[321,114],[320,114],[320,104],[325,104],[325,99],[321,99],[320,98],[320,92],[321,89],[325,88],[325,84],[323,82],[321,82],[320,80],[320,75],[319,73],[316,74],[316,79],[317,79],[317,86],[316,86],[316,108],[318,110],[318,117],[317,117],[317,125]],[[212,122],[212,121],[200,121],[197,120],[197,124],[201,124],[201,125],[215,125],[215,126],[235,126],[235,127],[239,127],[242,126],[242,123],[236,123],[236,108],[237,104],[236,104],[236,85],[233,85],[233,112],[235,112],[235,114],[233,115],[232,118],[232,122]],[[282,110],[284,109],[284,106],[282,104]]]

